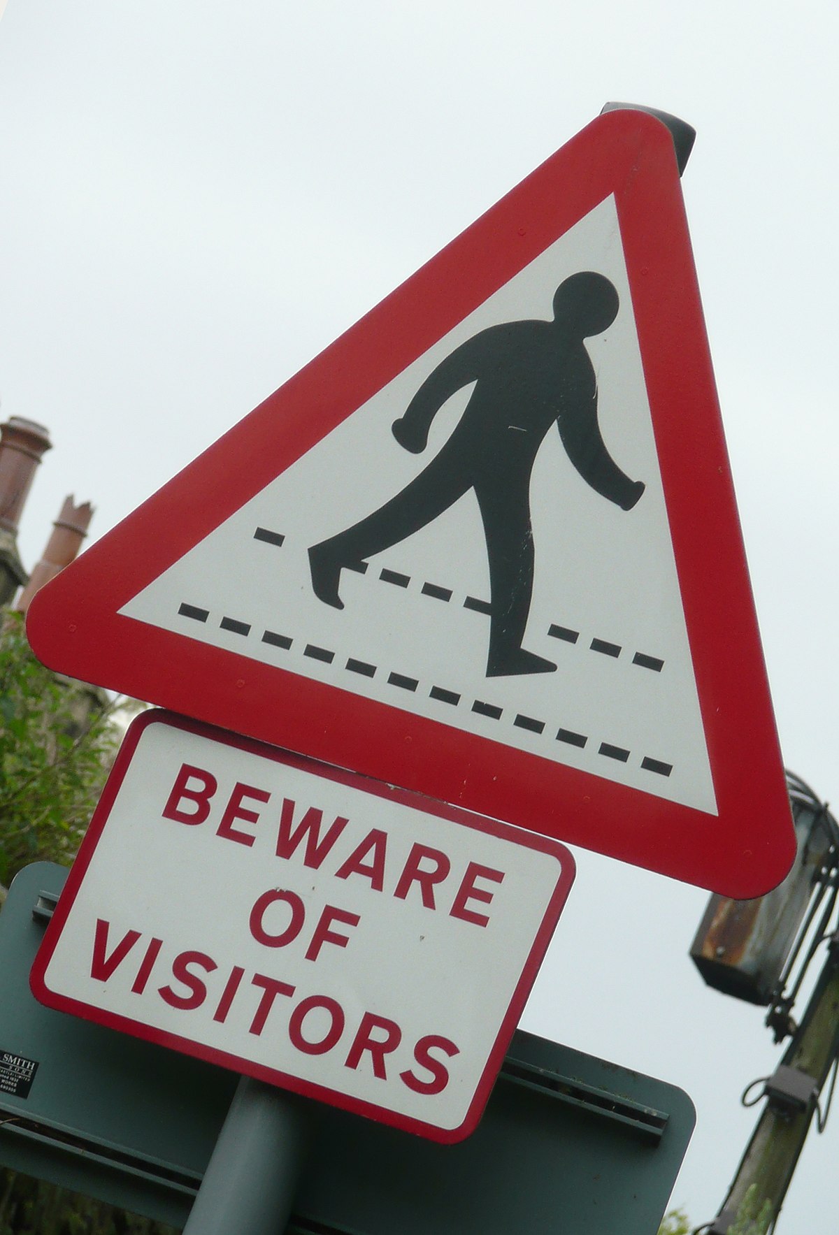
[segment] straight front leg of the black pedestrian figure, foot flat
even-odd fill
[[[552,661],[521,647],[533,597],[533,529],[528,490],[520,494],[476,488],[487,537],[491,618],[487,677],[551,673]]]

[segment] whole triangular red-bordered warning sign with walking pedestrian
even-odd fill
[[[35,600],[42,659],[731,895],[790,809],[667,128],[601,116]]]

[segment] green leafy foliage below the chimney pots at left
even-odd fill
[[[0,884],[72,861],[121,737],[126,700],[103,704],[36,661],[21,615],[0,611]]]

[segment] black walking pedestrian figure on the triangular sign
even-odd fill
[[[440,408],[474,383],[460,422],[400,493],[309,550],[315,595],[342,609],[344,567],[405,540],[473,489],[489,562],[487,677],[555,669],[552,661],[521,646],[533,594],[530,474],[556,422],[568,458],[592,489],[623,510],[631,510],[644,493],[644,483],[630,480],[603,442],[597,379],[583,342],[612,325],[618,306],[609,279],[591,270],[572,274],[554,296],[554,321],[491,326],[441,361],[394,421],[393,436],[419,454]]]

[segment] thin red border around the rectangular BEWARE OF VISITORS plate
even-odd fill
[[[257,755],[261,758],[267,758],[273,763],[284,763],[289,767],[299,768],[304,772],[319,776],[324,779],[334,781],[344,785],[351,785],[363,793],[369,793],[374,797],[383,798],[388,802],[394,802],[404,806],[411,806],[415,810],[421,810],[425,814],[434,815],[439,819],[446,819],[455,824],[462,824],[463,826],[471,827],[476,831],[510,841],[512,844],[524,846],[525,848],[536,850],[540,853],[547,853],[559,860],[560,876],[556,882],[556,887],[545,910],[539,931],[534,939],[533,947],[525,960],[521,974],[515,990],[513,992],[510,1004],[502,1019],[495,1041],[489,1052],[487,1063],[483,1068],[474,1095],[470,1103],[462,1124],[455,1129],[436,1128],[434,1124],[402,1115],[386,1107],[378,1107],[374,1103],[363,1102],[358,1098],[353,1098],[352,1095],[344,1094],[340,1091],[300,1079],[299,1077],[280,1072],[279,1070],[269,1068],[261,1063],[253,1063],[242,1056],[220,1051],[215,1047],[205,1046],[201,1042],[194,1042],[189,1037],[171,1034],[154,1026],[146,1025],[143,1021],[133,1020],[129,1016],[105,1011],[93,1004],[68,998],[49,989],[46,983],[46,972],[52,961],[56,947],[58,946],[62,930],[69,918],[73,905],[75,904],[77,897],[84,892],[84,876],[96,851],[96,846],[114,808],[126,772],[131,764],[137,743],[140,742],[140,739],[146,729],[153,724],[163,724],[171,729],[182,730],[189,734],[198,734],[199,736],[211,739],[221,745],[232,746],[237,750]],[[154,709],[137,716],[131,722],[126,732],[103,795],[94,811],[88,832],[67,877],[67,883],[58,899],[52,920],[47,926],[43,942],[38,948],[38,953],[30,972],[30,986],[32,994],[40,1003],[46,1004],[48,1008],[54,1008],[57,1011],[65,1011],[74,1016],[82,1016],[96,1025],[104,1025],[105,1028],[117,1030],[119,1032],[131,1034],[133,1037],[140,1037],[146,1042],[154,1042],[157,1046],[166,1046],[171,1050],[192,1055],[195,1058],[206,1061],[208,1063],[215,1063],[234,1072],[255,1077],[257,1081],[266,1081],[269,1084],[279,1086],[283,1089],[303,1094],[306,1098],[315,1098],[319,1102],[326,1102],[332,1107],[339,1107],[342,1110],[350,1110],[357,1115],[365,1115],[368,1119],[388,1124],[392,1128],[400,1128],[404,1131],[414,1132],[415,1135],[423,1136],[428,1140],[437,1141],[442,1145],[453,1145],[470,1136],[481,1120],[481,1115],[483,1114],[483,1109],[489,1098],[495,1077],[498,1076],[498,1071],[504,1061],[504,1055],[513,1036],[513,1031],[519,1024],[528,995],[530,994],[533,984],[536,981],[536,974],[539,973],[539,968],[545,958],[547,946],[554,937],[554,931],[556,930],[556,925],[562,909],[565,908],[571,885],[573,884],[575,873],[576,865],[573,856],[565,847],[565,845],[559,841],[549,840],[545,836],[525,831],[520,827],[514,827],[510,824],[499,823],[497,819],[487,819],[481,815],[474,815],[471,811],[461,810],[457,806],[446,806],[442,803],[432,802],[430,798],[424,798],[420,794],[408,793],[404,789],[397,789],[393,785],[386,785],[378,781],[371,781],[367,777],[361,777],[352,772],[345,772],[340,768],[324,766],[314,760],[305,758],[304,756],[292,755],[288,751],[279,751],[273,746],[266,746],[262,742],[241,737],[237,734],[229,734],[225,730],[205,725],[201,721],[190,720],[185,716],[177,716],[172,713]]]

